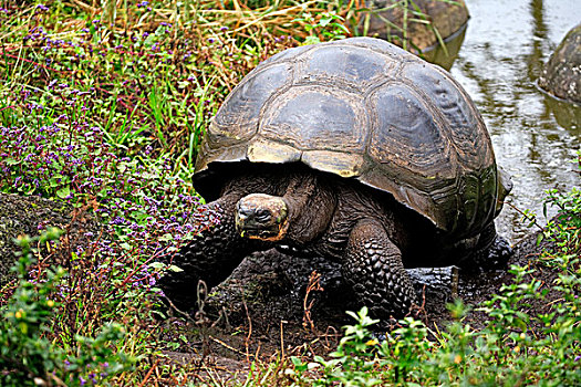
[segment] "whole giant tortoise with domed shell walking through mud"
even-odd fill
[[[218,224],[162,281],[178,306],[194,304],[198,280],[216,285],[247,254],[278,247],[341,262],[380,318],[417,300],[404,268],[495,261],[494,219],[510,189],[458,83],[372,38],[258,65],[211,122],[194,182],[201,217]]]

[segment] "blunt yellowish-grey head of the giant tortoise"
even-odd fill
[[[289,228],[287,203],[278,196],[245,196],[236,205],[235,218],[242,238],[280,241]]]

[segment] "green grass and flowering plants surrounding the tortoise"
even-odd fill
[[[0,190],[60,200],[103,228],[80,250],[52,245],[61,269],[31,271],[30,253],[48,252],[20,241],[20,276],[0,290],[0,380],[194,385],[198,368],[160,355],[184,338],[164,331],[155,285],[164,268],[154,261],[212,226],[197,221],[191,187],[206,125],[260,61],[347,35],[357,2],[43,4],[0,2]],[[540,261],[559,270],[562,294],[547,315],[523,312],[543,294],[533,272],[513,268],[515,282],[481,305],[483,330],[463,323],[455,304],[446,330],[406,320],[380,344],[360,311],[333,353],[255,360],[238,384],[579,383],[580,192],[550,191],[547,203],[561,216],[543,234],[557,250]]]

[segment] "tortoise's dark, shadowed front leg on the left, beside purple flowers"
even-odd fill
[[[210,223],[210,218],[216,217],[219,223],[201,231],[170,259],[170,263],[183,271],[167,272],[159,284],[177,307],[187,310],[196,305],[199,280],[211,289],[258,248],[256,241],[236,232],[234,213],[240,195],[230,194],[198,209],[201,223]]]

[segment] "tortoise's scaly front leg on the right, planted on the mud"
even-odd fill
[[[416,302],[402,253],[377,221],[362,220],[351,231],[342,269],[374,317],[402,317]]]

